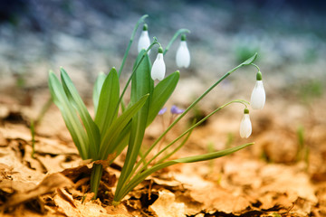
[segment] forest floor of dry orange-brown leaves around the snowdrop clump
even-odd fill
[[[313,106],[289,106],[287,99],[270,95],[262,111],[251,113],[252,137],[237,136],[241,114],[227,109],[198,127],[177,156],[252,141],[254,146],[209,162],[163,169],[116,207],[110,203],[124,155],[105,168],[99,199],[92,201],[91,164],[78,156],[54,105],[35,128],[33,153],[30,117],[40,114],[48,95],[33,95],[34,106],[2,96],[1,216],[325,216],[325,103],[319,99]],[[145,144],[162,130],[159,118],[169,119],[168,114],[158,117]]]

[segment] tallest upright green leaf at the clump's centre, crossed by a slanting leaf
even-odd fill
[[[140,58],[143,56],[144,52],[145,51],[139,53],[134,67],[136,67],[136,65],[139,63]],[[143,59],[143,61],[139,63],[139,67],[131,80],[131,102],[137,101],[141,96],[145,94],[149,94],[149,99],[145,105],[139,109],[137,115],[131,120],[129,146],[126,161],[123,165],[118,182],[118,191],[120,190],[120,186],[125,184],[126,180],[129,178],[130,172],[136,163],[137,157],[139,156],[140,146],[145,134],[145,129],[147,127],[149,104],[154,89],[154,80],[152,80],[150,77],[150,69],[151,64],[149,61],[149,55],[146,54],[146,57]]]

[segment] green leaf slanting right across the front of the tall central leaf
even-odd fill
[[[134,117],[139,109],[144,106],[148,98],[149,94],[139,99],[139,101],[129,107],[129,109],[126,109],[119,118],[115,119],[106,132],[103,132],[100,146],[101,160],[105,160],[109,154],[113,154],[115,152],[117,147],[112,146],[112,141],[117,141],[116,139],[118,139],[122,130],[125,127],[128,127],[131,118]]]

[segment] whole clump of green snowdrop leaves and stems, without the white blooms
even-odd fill
[[[218,110],[232,103],[241,103],[245,105],[245,108],[249,104],[245,100],[236,99],[225,103],[225,105],[212,111],[197,123],[193,122],[192,126],[187,128],[184,133],[164,146],[155,156],[152,156],[154,147],[158,145],[168,131],[170,131],[190,109],[193,109],[208,92],[213,90],[218,83],[228,77],[232,72],[242,66],[252,64],[257,54],[254,54],[254,56],[241,63],[233,70],[227,71],[220,80],[217,80],[185,109],[185,111],[168,126],[161,136],[149,146],[145,153],[140,154],[146,128],[149,127],[157,117],[159,110],[163,108],[175,90],[179,80],[179,71],[175,71],[165,79],[160,80],[157,85],[154,84],[154,80],[150,77],[151,62],[148,52],[156,44],[158,44],[161,49],[160,44],[154,39],[154,42],[149,45],[147,50],[139,52],[129,80],[120,92],[120,74],[124,62],[128,56],[136,30],[146,17],[147,15],[141,17],[135,26],[127,51],[121,63],[120,71],[116,71],[115,68],[112,68],[108,75],[101,73],[96,80],[93,90],[94,118],[91,118],[91,114],[83,103],[82,98],[66,71],[63,69],[60,70],[61,80],[57,78],[53,71],[50,71],[49,74],[49,88],[52,93],[53,101],[62,112],[62,117],[72,135],[75,146],[78,148],[82,159],[91,159],[95,162],[91,172],[91,191],[95,193],[95,197],[98,192],[103,169],[102,165],[98,163],[98,160],[109,161],[107,163],[110,164],[117,156],[120,156],[120,153],[125,148],[127,148],[127,156],[114,193],[113,204],[120,203],[134,187],[145,180],[149,175],[169,165],[215,159],[220,156],[234,153],[245,146],[252,145],[252,143],[249,143],[242,146],[230,147],[218,152],[211,152],[206,155],[187,156],[169,160],[169,156],[175,154],[177,150],[186,143],[193,129],[203,123],[207,118],[214,115]],[[185,29],[177,31],[172,40],[168,43],[163,54],[168,52],[169,46],[171,46],[172,42],[177,39],[177,36],[182,33],[188,33],[188,31]],[[123,98],[130,82],[130,100],[125,105]],[[172,145],[177,142],[179,142],[179,145],[173,147]]]

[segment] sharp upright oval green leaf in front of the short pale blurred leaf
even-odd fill
[[[115,68],[112,68],[105,79],[100,95],[99,107],[96,112],[95,123],[99,126],[101,135],[118,116],[120,85],[119,77]]]

